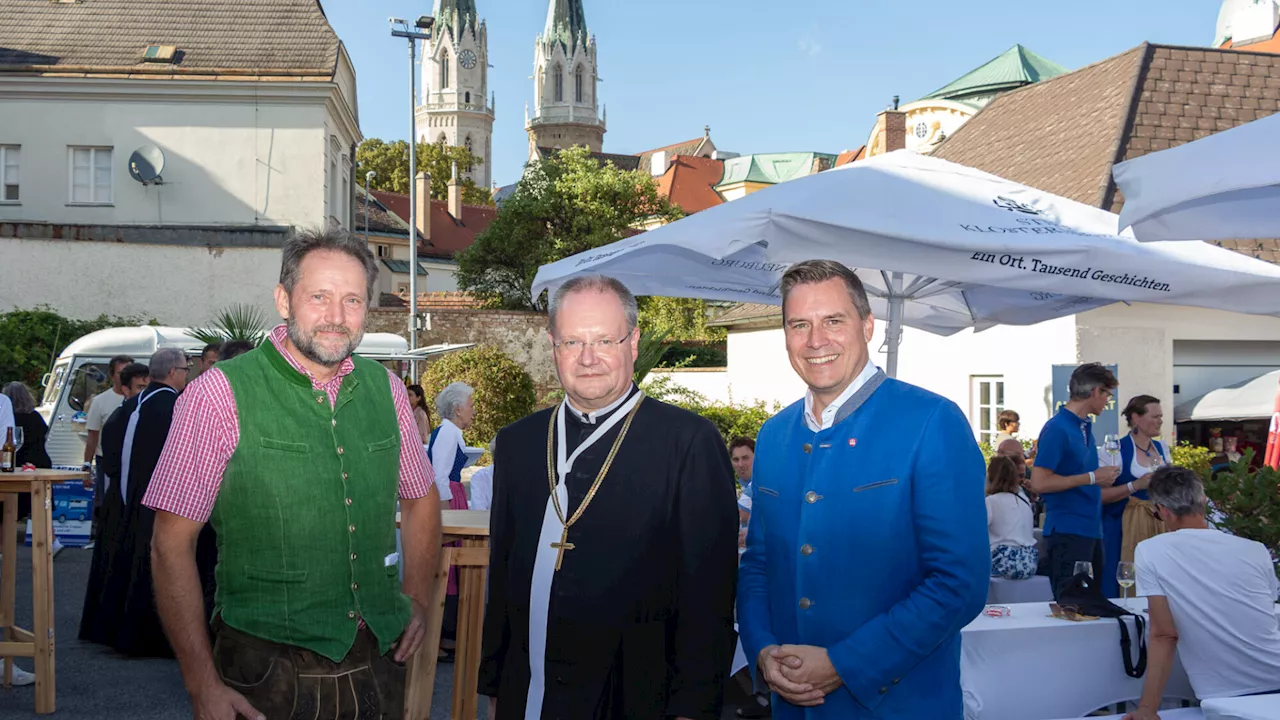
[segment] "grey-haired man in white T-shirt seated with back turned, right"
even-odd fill
[[[1151,639],[1142,701],[1125,720],[1158,717],[1175,651],[1199,700],[1280,692],[1280,587],[1271,553],[1208,527],[1204,486],[1193,470],[1161,468],[1147,492],[1170,532],[1134,552]]]

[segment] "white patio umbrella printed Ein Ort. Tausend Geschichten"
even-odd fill
[[[1143,245],[1111,213],[899,151],[777,184],[539,269],[534,297],[590,273],[637,295],[781,304],[782,272],[856,268],[888,320],[950,334],[1115,301],[1280,315],[1280,268],[1206,243]]]

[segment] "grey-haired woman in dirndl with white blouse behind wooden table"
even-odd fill
[[[470,428],[476,416],[475,391],[467,383],[451,383],[435,396],[435,410],[440,414],[440,424],[431,430],[431,439],[426,445],[426,457],[435,470],[435,487],[442,505],[448,502],[449,510],[466,510],[467,491],[462,487],[462,468],[467,464],[467,443],[462,439],[462,430]],[[453,660],[457,628],[458,570],[451,568],[439,660]]]

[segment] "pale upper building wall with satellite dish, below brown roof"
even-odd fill
[[[0,90],[0,143],[22,146],[22,200],[0,205],[0,220],[319,224],[326,211],[326,117],[323,99],[310,105],[155,95],[13,100]],[[332,132],[349,150],[348,133]],[[113,149],[110,206],[69,202],[73,145]],[[143,187],[129,177],[129,156],[143,145],[164,151],[165,184]]]

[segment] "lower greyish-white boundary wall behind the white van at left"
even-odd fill
[[[271,292],[280,251],[0,237],[0,307],[49,305],[77,319],[141,315],[160,324],[210,323],[236,302],[279,319]]]

